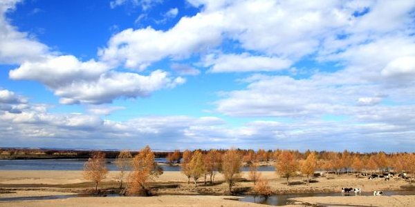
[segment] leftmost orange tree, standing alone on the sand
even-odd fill
[[[104,152],[93,152],[92,157],[84,164],[84,179],[95,183],[95,191],[98,190],[98,183],[107,177],[108,169],[105,166]]]

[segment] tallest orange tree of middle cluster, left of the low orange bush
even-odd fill
[[[234,148],[225,152],[222,157],[222,174],[229,186],[229,193],[232,194],[232,186],[234,186],[241,172],[242,159],[238,151]]]

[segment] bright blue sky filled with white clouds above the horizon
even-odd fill
[[[415,1],[1,0],[0,146],[415,151]]]

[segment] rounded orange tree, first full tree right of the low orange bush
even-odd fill
[[[275,170],[281,177],[286,177],[287,185],[289,185],[288,179],[290,177],[295,177],[297,169],[298,161],[295,159],[293,153],[288,150],[282,151],[281,155],[278,157]]]

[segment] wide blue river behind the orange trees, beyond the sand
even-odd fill
[[[0,159],[0,170],[82,170],[85,159]],[[107,159],[110,171],[118,170],[113,159]],[[165,158],[156,158],[157,162],[165,163]],[[180,166],[162,165],[165,171],[180,171]],[[248,171],[243,167],[242,171]],[[261,166],[259,171],[275,171],[274,166]]]

